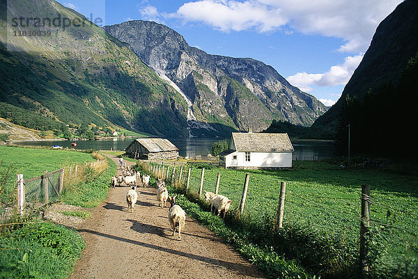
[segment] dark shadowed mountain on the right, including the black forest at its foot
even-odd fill
[[[418,1],[405,0],[379,24],[340,99],[312,125],[334,129],[341,154],[348,151],[348,131],[355,154],[418,154],[417,145],[408,145],[417,125],[417,10]]]

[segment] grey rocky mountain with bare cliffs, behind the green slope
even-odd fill
[[[104,30],[127,43],[185,97],[194,135],[261,131],[273,119],[309,126],[327,110],[273,67],[251,58],[207,54],[162,24],[137,20]]]

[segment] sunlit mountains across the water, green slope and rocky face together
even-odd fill
[[[49,118],[48,127],[226,136],[261,131],[273,119],[311,125],[326,110],[272,67],[206,54],[161,24],[101,29],[53,0],[0,5],[3,118],[24,109]]]

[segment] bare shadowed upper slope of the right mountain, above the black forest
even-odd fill
[[[418,51],[417,10],[418,1],[406,0],[380,22],[369,49],[338,102],[315,121],[314,127],[336,129],[339,112],[347,97],[362,100],[368,93],[376,93],[389,84],[398,85],[408,60]],[[395,94],[391,96],[393,99],[397,97]]]

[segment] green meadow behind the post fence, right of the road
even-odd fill
[[[371,186],[371,278],[416,278],[418,274],[417,176],[389,169],[341,169],[324,162],[294,161],[289,170],[224,170],[192,166],[189,198],[203,190],[233,200],[226,223],[250,243],[274,247],[322,278],[356,278],[362,184]],[[172,171],[173,168],[171,168]],[[187,172],[184,172],[187,175]],[[238,217],[245,175],[245,211]],[[178,176],[178,168],[176,169]],[[171,177],[171,173],[169,175]],[[187,177],[183,177],[183,182]],[[280,182],[286,182],[284,228],[277,228]]]

